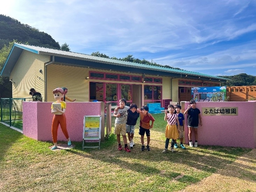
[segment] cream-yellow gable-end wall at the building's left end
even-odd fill
[[[23,50],[14,69],[11,72],[10,79],[12,83],[13,98],[29,98],[30,88],[40,92],[44,99],[44,63],[48,62],[50,57],[47,55],[38,55],[30,51]],[[42,73],[39,70],[42,69]]]

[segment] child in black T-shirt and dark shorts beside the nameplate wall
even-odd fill
[[[190,100],[187,110],[184,114],[188,114],[188,138],[189,138],[189,147],[193,147],[192,142],[192,131],[195,134],[195,147],[197,147],[197,128],[198,128],[198,118],[200,119],[200,126],[202,126],[202,117],[200,110],[196,108],[196,101]]]

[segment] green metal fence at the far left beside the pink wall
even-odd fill
[[[23,128],[23,107],[22,101],[28,98],[0,98],[1,122],[15,127],[19,130]]]

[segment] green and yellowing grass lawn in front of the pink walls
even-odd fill
[[[140,150],[136,125],[136,145],[131,153],[117,150],[113,134],[101,143],[100,150],[82,150],[82,142],[72,142],[73,149],[52,151],[49,149],[52,142],[30,139],[0,124],[0,191],[187,191],[217,173],[224,177],[227,167],[236,163],[239,168],[242,163],[238,160],[252,152],[239,147],[200,146],[199,140],[197,148],[185,145],[187,150],[178,148],[175,153],[162,154],[166,122],[164,114],[153,116],[156,121],[151,129],[151,151]],[[246,157],[246,161],[251,164],[233,178],[242,180],[241,184],[244,181],[255,184],[256,161],[251,157]],[[228,186],[216,191],[229,191]]]

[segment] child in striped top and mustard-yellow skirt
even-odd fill
[[[171,151],[175,152],[173,149],[174,146],[174,140],[178,139],[179,134],[178,134],[178,129],[177,129],[177,125],[180,126],[180,123],[178,121],[178,114],[176,112],[176,110],[174,110],[174,106],[173,105],[168,105],[168,112],[165,111],[165,121],[167,120],[167,125],[166,125],[166,129],[165,129],[165,149],[163,150],[162,153],[167,153],[168,151],[168,145],[170,142],[170,139],[172,139],[172,143],[171,143]]]

